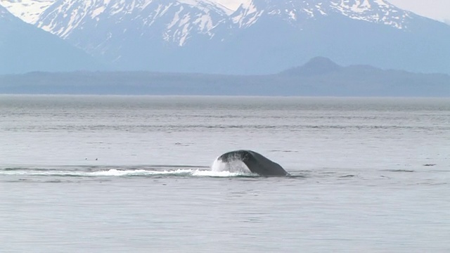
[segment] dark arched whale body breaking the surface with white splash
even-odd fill
[[[235,150],[217,157],[218,161],[231,163],[236,160],[242,161],[252,173],[260,176],[290,176],[280,164],[269,160],[252,150]]]

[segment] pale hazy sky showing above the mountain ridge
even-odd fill
[[[229,8],[237,8],[246,0],[217,0]],[[435,20],[450,22],[450,0],[388,0],[390,3]]]

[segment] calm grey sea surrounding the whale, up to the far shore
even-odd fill
[[[450,99],[2,95],[0,252],[450,252]]]

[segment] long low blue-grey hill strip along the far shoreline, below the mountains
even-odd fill
[[[240,96],[417,96],[450,97],[450,76],[342,67],[313,58],[301,67],[270,75],[162,72],[31,72],[0,75],[0,93],[240,95]]]

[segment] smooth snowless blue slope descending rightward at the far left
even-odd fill
[[[0,74],[98,69],[101,65],[81,49],[0,6]]]

